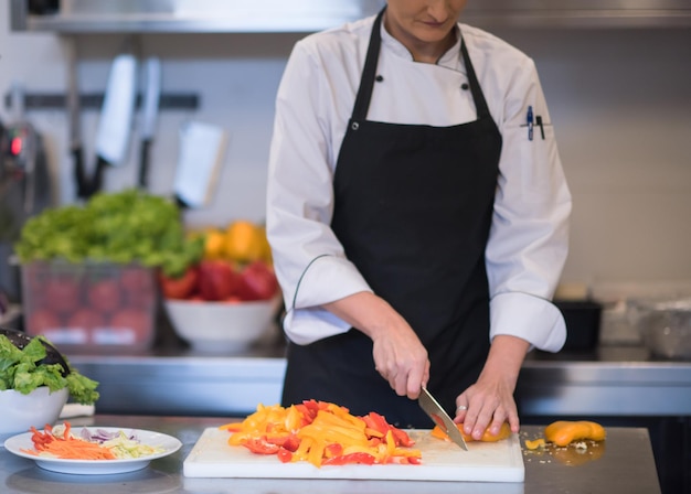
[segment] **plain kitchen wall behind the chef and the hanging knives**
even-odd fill
[[[9,30],[0,6],[0,95],[13,82],[32,93],[65,90],[59,36]],[[691,287],[691,29],[496,29],[530,53],[541,73],[574,196],[565,282],[600,287]],[[141,52],[163,62],[163,92],[195,93],[200,107],[161,114],[152,149],[151,190],[169,194],[178,130],[199,120],[230,132],[213,202],[190,225],[265,215],[266,162],[274,97],[298,34],[148,34]],[[83,92],[105,87],[121,36],[79,39]],[[10,121],[2,105],[0,119]],[[57,203],[74,200],[64,110],[28,118],[49,149]],[[93,163],[97,109],[84,109],[82,135]],[[135,122],[135,137],[137,132]],[[132,185],[139,146],[107,173],[106,189]],[[605,288],[603,288],[605,287]]]

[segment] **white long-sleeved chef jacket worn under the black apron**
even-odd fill
[[[330,228],[333,174],[374,17],[300,40],[278,95],[270,147],[267,234],[297,344],[344,333],[350,325],[321,305],[372,289]],[[458,24],[502,136],[495,211],[486,249],[490,333],[559,351],[566,330],[551,300],[566,259],[571,194],[534,63],[477,28]],[[438,63],[413,61],[382,24],[368,120],[453,126],[477,119],[460,40]],[[528,138],[527,111],[541,116]]]

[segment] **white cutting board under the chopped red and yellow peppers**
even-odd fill
[[[423,453],[419,465],[341,465],[316,468],[308,462],[281,463],[275,454],[231,447],[230,433],[209,428],[184,460],[188,477],[358,479],[411,481],[523,482],[525,469],[517,434],[498,442],[469,442],[468,451],[434,438],[429,430],[407,430]]]

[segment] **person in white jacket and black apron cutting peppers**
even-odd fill
[[[293,50],[267,190],[284,406],[429,428],[426,386],[476,439],[517,432],[525,354],[565,341],[571,195],[544,95],[530,57],[457,22],[466,2],[389,0]]]

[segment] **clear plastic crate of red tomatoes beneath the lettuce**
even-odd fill
[[[61,351],[139,352],[155,339],[157,284],[139,265],[31,262],[21,267],[24,329]]]

